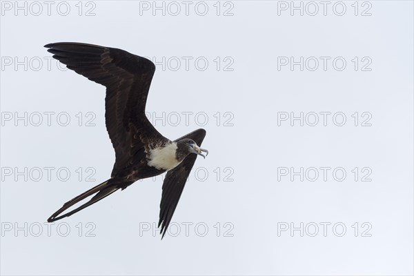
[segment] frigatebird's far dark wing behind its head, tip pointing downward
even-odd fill
[[[193,139],[198,146],[201,146],[204,137],[206,137],[206,130],[200,128],[175,141],[188,138]],[[181,164],[172,170],[169,170],[166,174],[164,184],[162,185],[162,197],[158,223],[158,227],[161,226],[162,237],[166,235],[168,225],[170,224],[172,215],[177,207],[179,197],[181,197],[181,193],[183,193],[184,186],[186,185],[188,175],[190,175],[190,171],[194,166],[195,159],[197,159],[197,155],[188,155],[186,159],[181,162]]]

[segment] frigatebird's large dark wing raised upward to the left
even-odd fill
[[[105,121],[116,156],[112,177],[132,161],[145,158],[151,142],[166,139],[145,115],[155,72],[152,61],[124,50],[84,43],[59,42],[45,47],[70,70],[106,86]]]

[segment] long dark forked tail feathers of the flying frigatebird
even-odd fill
[[[51,215],[48,218],[48,222],[52,222],[52,221],[57,221],[59,219],[63,219],[63,217],[69,217],[77,212],[79,212],[80,210],[91,206],[92,204],[97,203],[99,200],[108,197],[108,195],[111,195],[112,193],[115,193],[115,191],[117,191],[119,189],[118,186],[113,185],[112,183],[110,183],[111,179],[108,179],[107,181],[99,184],[98,186],[95,186],[93,188],[91,188],[90,190],[87,190],[85,193],[81,193],[81,195],[78,195],[77,197],[75,197],[74,199],[71,199],[70,201],[66,202],[66,204],[63,204],[62,208],[60,208],[59,210],[57,210],[53,215]],[[74,206],[75,204],[79,203],[80,201],[82,201],[83,199],[86,199],[87,197],[90,197],[91,195],[94,195],[90,201],[86,202],[85,204],[79,206],[78,208],[76,208],[75,210],[72,210],[66,214],[60,215],[61,213],[63,213],[65,210],[67,210],[68,208]],[[60,215],[59,217],[57,217],[58,215]]]

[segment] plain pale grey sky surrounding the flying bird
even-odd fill
[[[16,3],[1,1],[1,274],[413,274],[412,1]],[[45,224],[115,159],[105,88],[51,60],[58,41],[149,57],[157,130],[207,130],[164,240],[162,177]]]

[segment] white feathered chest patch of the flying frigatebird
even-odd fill
[[[175,158],[175,150],[177,150],[177,143],[172,142],[163,148],[154,148],[149,152],[148,166],[157,168],[159,170],[170,170],[175,168],[181,162]]]

